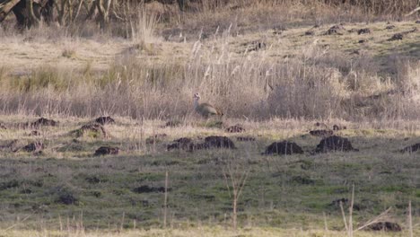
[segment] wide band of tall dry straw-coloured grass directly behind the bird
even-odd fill
[[[192,94],[224,110],[227,117],[417,118],[418,65],[399,59],[397,76],[380,75],[369,56],[349,60],[316,44],[296,57],[267,57],[265,50],[230,57],[229,32],[208,54],[198,40],[186,63],[118,57],[106,73],[43,67],[27,75],[0,74],[4,114],[101,114],[132,118],[185,118]],[[281,50],[281,49],[269,49]],[[206,59],[204,59],[207,57]],[[350,63],[351,62],[351,63]]]

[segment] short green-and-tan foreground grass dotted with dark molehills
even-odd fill
[[[4,118],[4,121],[12,121]],[[118,229],[124,215],[125,228],[161,226],[163,193],[136,193],[148,185],[164,186],[164,172],[169,171],[169,223],[175,228],[226,224],[232,210],[223,180],[223,169],[232,161],[249,169],[249,179],[239,203],[241,226],[276,226],[284,229],[322,229],[323,213],[330,230],[342,230],[337,198],[349,198],[355,184],[355,226],[389,206],[391,219],[404,226],[408,200],[412,200],[414,223],[418,223],[419,176],[416,154],[395,151],[418,142],[418,130],[366,128],[350,125],[338,132],[349,137],[360,152],[316,154],[310,152],[319,138],[307,135],[311,124],[297,121],[248,123],[246,135],[256,142],[236,142],[238,150],[166,152],[165,144],[180,136],[223,135],[223,130],[196,124],[163,128],[162,121],[136,121],[119,118],[107,126],[112,138],[79,138],[68,131],[86,122],[66,118],[61,127],[41,129],[43,136],[25,136],[30,130],[1,130],[2,143],[10,139],[44,140],[44,154],[34,156],[10,153],[3,149],[0,159],[2,222],[14,229],[59,229],[59,219],[72,228]],[[226,121],[226,124],[234,121]],[[407,125],[407,127],[410,127]],[[399,128],[399,127],[398,127]],[[144,139],[157,133],[167,138],[156,145]],[[287,157],[260,155],[266,145],[288,139],[302,145],[306,154]],[[118,145],[117,156],[93,157],[100,145]],[[75,205],[60,204],[61,195],[77,198]],[[30,215],[22,223],[25,216]],[[83,215],[83,217],[81,217]],[[227,217],[225,217],[225,215]],[[79,227],[77,227],[79,226]],[[416,226],[418,231],[418,226]]]

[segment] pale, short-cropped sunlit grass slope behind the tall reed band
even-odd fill
[[[263,42],[267,48],[263,48],[267,57],[277,61],[284,57],[294,57],[307,50],[308,45],[318,44],[328,50],[346,52],[354,57],[363,55],[376,57],[381,61],[381,69],[386,71],[389,57],[400,56],[408,58],[419,57],[419,47],[417,38],[420,31],[407,34],[404,40],[387,41],[393,34],[412,30],[417,26],[415,22],[390,22],[396,27],[386,30],[386,22],[366,23],[347,23],[344,25],[346,31],[341,31],[343,35],[324,35],[333,24],[321,25],[319,28],[313,26],[290,26],[281,34],[275,34],[272,29],[261,31],[250,31],[241,33],[239,30],[231,31],[227,42],[229,43],[230,58],[242,58],[247,48],[252,48],[253,42]],[[369,28],[372,33],[358,35],[357,31],[348,32],[352,29],[359,30]],[[221,29],[220,31],[226,31]],[[187,30],[186,30],[187,31]],[[305,35],[306,31],[313,31],[313,35]],[[215,32],[215,31],[214,31]],[[212,54],[214,50],[223,51],[226,47],[224,40],[220,39],[222,32],[214,35],[213,31],[206,32],[206,39],[202,41],[204,59],[214,60]],[[186,33],[182,30],[175,30],[174,34]],[[127,40],[118,39],[72,39],[63,38],[59,40],[40,40],[37,37],[15,38],[4,36],[0,45],[0,60],[2,66],[7,71],[21,75],[39,68],[39,66],[59,66],[86,70],[89,66],[93,70],[104,71],[115,58],[127,55],[136,55],[138,59],[145,60],[151,64],[177,60],[180,65],[185,64],[191,57],[194,50],[194,43],[198,40],[199,33],[188,34],[186,41],[183,38],[176,38],[175,41],[155,39],[145,44],[137,44]],[[29,40],[28,40],[29,38]],[[367,40],[360,44],[359,40]],[[180,41],[180,42],[179,42]],[[354,50],[358,50],[354,54]]]

